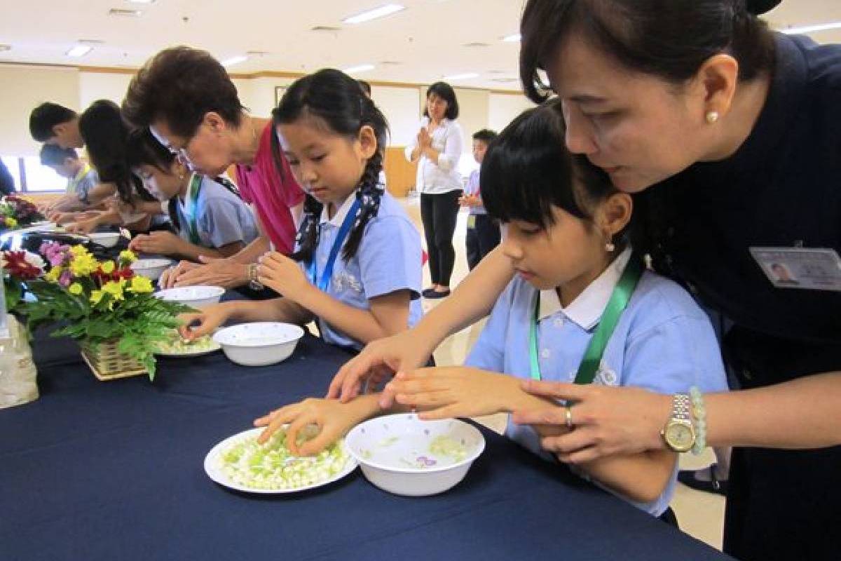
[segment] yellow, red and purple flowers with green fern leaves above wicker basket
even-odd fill
[[[39,251],[43,257],[2,252],[9,310],[24,315],[30,331],[61,321],[67,325],[52,336],[70,336],[93,348],[119,341],[119,352],[137,360],[154,380],[154,349],[179,325],[177,315],[191,309],[156,298],[151,280],[131,269],[137,258],[131,251],[102,262],[84,246],[49,241]],[[22,299],[24,288],[34,298]]]

